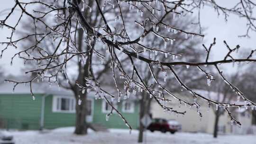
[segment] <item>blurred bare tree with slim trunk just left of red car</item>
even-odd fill
[[[173,19],[173,16],[170,17],[170,19]],[[192,27],[187,27],[190,23],[192,23],[193,20],[191,19],[186,19],[183,21],[174,21],[173,22],[173,26],[174,27],[182,27],[184,29],[193,29]],[[164,33],[164,34],[168,34],[168,31],[166,32],[165,29],[159,29],[159,32]],[[175,43],[173,45],[166,45],[166,51],[172,51],[174,53],[177,54],[185,54],[187,55],[187,61],[189,62],[196,62],[196,61],[200,61],[200,59],[202,59],[201,54],[203,53],[203,50],[195,50],[193,47],[195,47],[196,45],[198,45],[197,42],[199,42],[199,39],[193,39],[193,40],[187,40],[182,34],[177,33],[177,34],[173,34],[173,36],[176,37],[175,39]],[[157,36],[149,36],[147,38],[145,38],[147,42],[150,42],[150,46],[152,47],[163,47],[165,46],[164,43],[161,42],[161,40],[159,41],[159,39],[157,38]],[[179,47],[180,45],[184,45],[183,47]],[[190,48],[190,51],[186,51],[187,48]],[[144,52],[145,53],[145,52]],[[197,56],[195,56],[197,55]],[[150,56],[150,55],[148,55]],[[173,57],[167,57],[166,55],[153,55],[152,56],[153,59],[158,59],[160,61],[165,61],[165,60],[169,60],[172,61]],[[141,77],[143,78],[143,81],[145,82],[146,85],[150,85],[151,89],[158,89],[157,88],[157,83],[158,81],[154,80],[154,77],[152,77],[151,71],[150,69],[147,69],[147,64],[146,63],[137,63],[137,66],[139,67],[139,71],[141,72]],[[171,77],[169,75],[165,76],[165,72],[163,73],[162,69],[151,69],[152,72],[155,73],[155,77],[161,79],[161,81],[164,81],[165,83],[162,84],[163,87],[169,87],[174,91],[180,91],[181,87],[180,85],[175,85],[175,78]],[[178,67],[177,68],[178,72],[183,72],[183,71],[187,71],[184,72],[185,74],[181,74],[180,77],[183,78],[184,80],[192,80],[192,81],[197,81],[199,79],[201,79],[201,75],[198,74],[197,70],[195,69],[189,69],[189,67]],[[164,74],[164,77],[163,77]],[[193,76],[193,79],[191,79],[191,77]],[[167,81],[168,79],[168,81]],[[192,81],[189,81],[188,84],[191,84]],[[198,82],[198,81],[197,81]],[[205,81],[204,81],[205,82]],[[198,85],[198,84],[197,84]],[[138,92],[140,91],[137,90]],[[158,91],[162,91],[161,88],[158,89]],[[163,95],[163,97],[165,98],[165,100],[168,100],[165,96],[164,93],[158,93],[158,95]],[[138,135],[138,142],[142,143],[143,142],[143,132],[145,130],[145,126],[143,126],[143,124],[141,123],[141,119],[146,115],[150,115],[150,106],[151,106],[151,102],[152,99],[148,99],[148,94],[143,91],[141,93],[141,95],[139,95],[139,104],[140,104],[140,114],[139,114],[139,135]],[[168,100],[171,101],[171,100]]]

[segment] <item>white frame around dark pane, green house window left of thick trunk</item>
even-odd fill
[[[68,110],[61,110],[61,109],[57,108],[58,100],[61,101],[61,99],[69,99],[69,109]],[[75,113],[75,105],[76,105],[76,99],[71,96],[53,96],[53,105],[52,105],[53,112]],[[73,108],[72,108],[72,106],[73,106]]]

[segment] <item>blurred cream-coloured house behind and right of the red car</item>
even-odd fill
[[[201,90],[204,96],[208,96],[208,91]],[[202,93],[201,93],[202,94]],[[178,94],[180,95],[180,94]],[[211,97],[218,97],[217,93],[211,92]],[[186,96],[181,96],[182,99],[186,99]],[[169,99],[169,98],[168,98]],[[211,98],[214,99],[214,98]],[[175,119],[182,125],[182,131],[184,132],[203,132],[203,133],[213,133],[214,129],[214,120],[215,114],[214,110],[215,106],[212,108],[208,108],[208,103],[205,101],[200,101],[201,108],[200,112],[203,117],[200,118],[195,107],[191,109],[186,107],[184,104],[179,106],[179,102],[177,100],[172,99],[173,101],[169,103],[169,106],[174,108],[177,111],[186,111],[184,116],[176,116],[175,114],[168,114],[163,111],[163,109],[156,103],[153,102],[151,106],[152,117],[160,117],[166,119]],[[234,134],[247,134],[249,128],[251,127],[251,115],[250,111],[245,108],[241,108],[240,110],[235,110],[232,112],[232,115],[236,117],[241,123],[242,128],[238,126],[230,124],[230,117],[225,112],[223,115],[219,117],[219,133],[234,133]]]

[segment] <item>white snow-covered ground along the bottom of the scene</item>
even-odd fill
[[[73,127],[38,131],[9,131],[16,144],[137,144],[137,130],[110,129],[110,132],[93,132],[73,135]],[[144,143],[145,144],[145,143]],[[256,144],[256,135],[220,135],[217,139],[202,133],[146,132],[146,144]]]

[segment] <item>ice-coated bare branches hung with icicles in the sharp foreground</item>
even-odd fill
[[[205,102],[210,103],[212,105],[217,105],[217,107],[224,107],[225,111],[229,114],[230,120],[234,121],[235,124],[241,125],[240,122],[232,117],[229,107],[255,107],[256,104],[251,100],[247,99],[244,94],[235,87],[229,80],[224,76],[224,72],[219,68],[219,64],[221,63],[240,63],[240,62],[256,62],[256,59],[253,57],[254,52],[252,51],[245,58],[235,58],[232,54],[240,49],[239,45],[234,44],[228,45],[226,41],[224,41],[225,47],[228,49],[228,53],[223,59],[218,61],[210,61],[209,56],[212,47],[216,44],[216,39],[214,38],[212,44],[209,47],[203,45],[206,50],[206,58],[205,61],[200,62],[188,62],[186,59],[186,55],[173,53],[170,51],[166,51],[165,47],[167,45],[172,45],[175,43],[175,36],[172,36],[172,33],[182,33],[185,38],[196,37],[204,37],[201,34],[201,23],[200,23],[200,10],[204,5],[209,6],[216,10],[218,14],[224,14],[224,18],[227,19],[229,17],[229,13],[236,15],[240,18],[245,18],[247,20],[247,32],[243,36],[249,36],[249,32],[256,31],[255,20],[253,11],[255,10],[256,3],[252,0],[239,0],[234,6],[230,4],[230,8],[221,7],[215,0],[53,0],[54,3],[51,2],[42,2],[40,0],[36,1],[26,1],[22,2],[21,0],[15,0],[15,5],[10,10],[9,14],[6,18],[1,20],[0,24],[2,27],[8,27],[12,31],[10,32],[10,36],[8,37],[7,42],[1,42],[1,44],[5,45],[2,50],[1,55],[4,51],[11,46],[18,48],[17,42],[23,43],[28,37],[34,37],[35,45],[27,47],[25,50],[21,50],[18,54],[15,54],[12,59],[19,57],[25,61],[33,61],[38,65],[37,69],[29,70],[26,73],[37,72],[37,75],[33,77],[30,81],[11,81],[14,82],[14,89],[20,83],[29,83],[31,87],[31,95],[33,96],[33,81],[37,79],[48,78],[54,79],[54,81],[58,82],[56,79],[56,75],[65,73],[67,71],[66,65],[72,61],[73,59],[79,57],[82,59],[88,58],[86,63],[83,63],[86,69],[84,69],[84,75],[79,75],[82,81],[77,81],[76,87],[80,92],[83,90],[94,90],[97,93],[97,96],[101,96],[106,100],[107,103],[110,104],[112,110],[107,117],[112,114],[112,111],[116,111],[119,116],[124,120],[124,123],[128,126],[128,128],[132,129],[132,127],[128,124],[128,121],[123,117],[123,115],[111,105],[110,98],[121,99],[121,96],[127,97],[130,91],[137,91],[137,88],[140,88],[142,91],[147,93],[148,98],[152,97],[155,101],[166,111],[170,113],[175,113],[177,115],[184,115],[185,111],[178,111],[172,107],[167,107],[165,104],[168,100],[165,99],[163,95],[157,95],[158,93],[164,93],[165,95],[171,95],[175,99],[178,100],[179,103],[183,103],[187,106],[194,106],[197,108],[199,117],[202,117],[200,112],[200,104],[197,102],[197,99],[203,99]],[[59,4],[56,4],[59,3]],[[40,7],[45,7],[44,11],[33,11],[33,5],[37,5]],[[129,8],[128,13],[123,13],[124,10]],[[8,19],[15,9],[19,9],[20,17],[17,22],[14,24],[9,24]],[[94,19],[94,16],[85,17],[83,12],[86,10],[86,13],[91,11],[96,11],[100,14],[100,18]],[[109,11],[109,12],[108,12]],[[137,11],[137,15],[134,13]],[[114,13],[117,12],[117,13]],[[170,15],[173,15],[173,20],[178,21],[179,18],[188,18],[191,13],[198,12],[198,21],[196,23],[190,25],[197,25],[198,30],[194,29],[193,31],[189,31],[187,29],[183,29],[181,27],[175,27],[170,23],[170,19],[168,19]],[[36,15],[35,15],[36,13]],[[144,17],[146,13],[150,14],[150,17]],[[38,14],[40,16],[38,16]],[[49,21],[46,21],[45,18],[48,17]],[[23,36],[15,39],[15,29],[18,29],[18,24],[24,17],[28,17],[32,19],[32,27],[35,27],[35,31],[27,36]],[[90,20],[90,19],[93,20]],[[56,22],[50,19],[57,19]],[[104,24],[95,24],[95,21],[102,19]],[[118,21],[119,27],[115,27],[116,23],[113,19]],[[43,25],[45,27],[45,32],[38,32],[38,26]],[[76,25],[75,27],[72,27]],[[140,27],[139,30],[127,29],[128,26],[137,25]],[[83,30],[78,30],[82,28]],[[161,31],[168,31],[170,33],[161,33],[160,29],[164,29]],[[84,33],[85,41],[77,41],[76,35]],[[146,41],[146,37],[155,35],[160,40],[164,46],[159,45],[158,47],[152,47],[149,45],[149,42]],[[52,54],[45,52],[45,47],[41,47],[40,43],[46,41],[47,38],[52,38],[54,41],[54,51]],[[78,46],[78,43],[82,43],[86,45],[87,49],[81,49]],[[62,46],[63,44],[64,46]],[[97,46],[96,46],[97,45]],[[179,45],[182,47],[183,45]],[[102,49],[106,49],[106,53],[100,53],[99,51]],[[33,51],[34,50],[34,51]],[[148,54],[144,54],[144,52]],[[186,51],[189,51],[187,49]],[[29,57],[31,53],[37,53],[40,56],[37,57]],[[174,57],[174,60],[168,61],[153,59],[152,54],[157,55],[166,55],[167,57]],[[149,55],[149,56],[148,56]],[[182,56],[181,59],[178,57]],[[63,60],[60,59],[63,57]],[[112,71],[112,78],[116,86],[116,91],[118,95],[112,95],[108,91],[101,88],[101,84],[95,76],[95,70],[98,67],[94,67],[92,62],[99,61],[95,57],[99,57],[101,60],[104,60],[106,57],[110,58],[110,65]],[[120,58],[127,57],[127,62],[129,63],[121,63]],[[108,59],[107,59],[108,60]],[[106,61],[106,60],[105,60]],[[135,62],[136,61],[136,62]],[[12,61],[10,62],[12,63]],[[151,76],[155,79],[155,83],[157,85],[156,88],[152,88],[150,85],[147,85],[144,81],[141,72],[138,69],[136,63],[146,63],[147,69],[151,72]],[[124,64],[129,66],[130,70],[126,71],[123,67]],[[82,63],[81,63],[82,65]],[[237,94],[237,97],[241,97],[244,100],[244,104],[236,104],[236,103],[227,103],[227,102],[218,102],[213,99],[209,99],[200,93],[195,92],[191,89],[191,87],[187,84],[186,81],[181,77],[181,73],[177,72],[178,66],[190,66],[198,69],[198,72],[201,72],[206,76],[208,84],[214,80],[213,74],[204,70],[202,67],[211,66],[217,70],[219,76],[223,79],[227,85],[229,85],[230,89]],[[161,69],[164,74],[163,77],[157,77],[153,69]],[[49,74],[49,72],[51,74]],[[190,92],[193,102],[186,101],[179,96],[173,93],[173,90],[169,86],[164,86],[166,75],[173,76],[177,84],[182,87],[183,90]],[[120,85],[117,82],[117,77],[120,76],[122,78],[122,83],[125,85],[125,90],[120,90]],[[168,78],[168,77],[167,77]],[[52,82],[50,81],[50,82]],[[167,79],[167,81],[169,81]],[[120,81],[119,81],[120,82]],[[159,88],[161,91],[159,91]],[[84,102],[85,99],[82,99]],[[83,106],[83,105],[82,105]],[[82,126],[81,126],[82,127]]]

